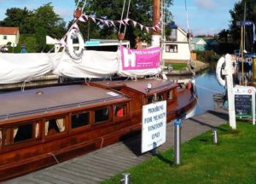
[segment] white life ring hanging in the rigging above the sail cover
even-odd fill
[[[79,49],[74,49],[73,38],[78,38]],[[83,51],[84,51],[84,38],[78,30],[72,29],[67,34],[67,53],[74,60],[79,60],[83,56]]]

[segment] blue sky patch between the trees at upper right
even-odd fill
[[[237,0],[187,0],[189,28],[194,35],[214,34],[229,28],[230,9]],[[173,0],[171,7],[177,26],[188,30],[185,0]]]

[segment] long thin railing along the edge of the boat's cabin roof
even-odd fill
[[[51,106],[51,107],[47,107],[47,108],[40,108],[40,109],[29,110],[29,111],[24,111],[24,112],[14,112],[14,113],[0,115],[0,119],[15,118],[15,117],[34,114],[34,113],[41,113],[41,112],[46,113],[46,112],[55,111],[55,110],[58,110],[58,109],[74,107],[74,106],[79,107],[79,106],[84,106],[84,105],[88,105],[88,104],[92,104],[92,103],[96,103],[96,102],[101,102],[101,101],[111,101],[111,100],[115,100],[115,99],[120,99],[120,98],[123,98],[123,97],[125,97],[125,95],[111,96],[111,97],[100,98],[100,99],[91,100],[91,101],[80,101],[80,102],[65,104],[65,105],[61,105],[61,106]]]

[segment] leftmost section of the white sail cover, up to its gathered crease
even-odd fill
[[[43,76],[53,67],[51,55],[0,53],[0,83],[19,83]]]

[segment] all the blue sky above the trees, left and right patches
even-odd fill
[[[45,3],[52,2],[56,14],[68,21],[73,19],[74,0],[0,0],[0,20],[5,17],[6,9],[26,7],[38,9]],[[194,35],[214,34],[229,27],[229,10],[237,0],[187,0],[189,28]],[[187,30],[185,0],[173,0],[172,14],[177,26]]]

